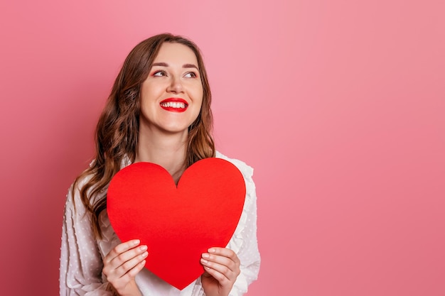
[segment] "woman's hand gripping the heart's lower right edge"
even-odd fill
[[[205,272],[201,283],[205,296],[227,296],[240,275],[240,259],[229,248],[209,248],[201,264]]]

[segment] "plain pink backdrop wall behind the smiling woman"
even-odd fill
[[[255,169],[248,295],[445,295],[443,1],[1,1],[1,294],[58,295],[65,194],[129,50],[203,50]]]

